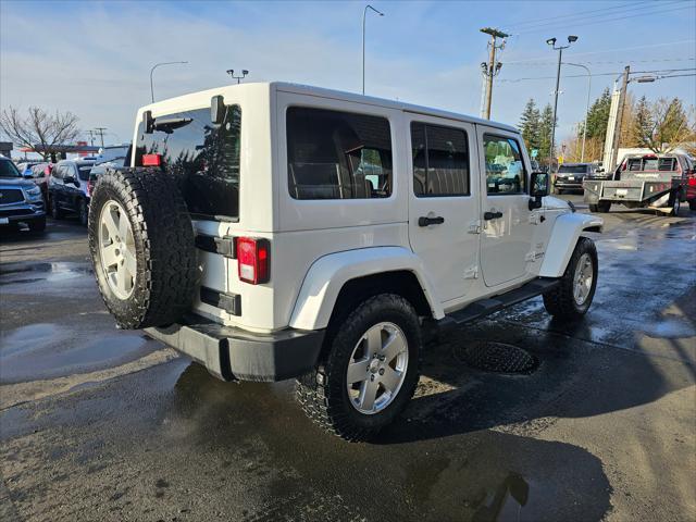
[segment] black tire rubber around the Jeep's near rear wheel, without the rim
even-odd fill
[[[381,412],[365,414],[350,403],[346,387],[347,365],[364,333],[384,321],[398,325],[403,332],[409,362],[405,381],[393,402]],[[296,398],[304,413],[325,431],[350,442],[369,440],[397,419],[415,390],[422,347],[415,310],[397,295],[371,297],[339,324],[330,326],[326,343],[326,355],[318,369],[297,380]]]

